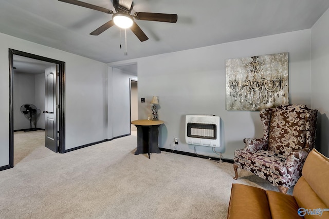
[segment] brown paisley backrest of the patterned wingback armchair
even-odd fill
[[[292,150],[305,147],[308,110],[305,105],[279,106],[272,109],[269,150],[287,156]]]

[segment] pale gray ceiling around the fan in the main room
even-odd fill
[[[114,10],[110,0],[81,0]],[[178,14],[176,24],[136,21],[149,40],[111,27],[90,32],[111,14],[57,0],[0,0],[0,32],[110,63],[311,28],[328,0],[134,0],[134,12]]]

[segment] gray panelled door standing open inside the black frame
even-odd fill
[[[57,66],[45,70],[46,101],[45,101],[45,132],[46,147],[58,152],[57,139]]]

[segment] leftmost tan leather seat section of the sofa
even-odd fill
[[[232,184],[227,218],[271,218],[266,191],[253,186]]]

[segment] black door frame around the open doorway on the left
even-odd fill
[[[13,108],[13,56],[20,55],[28,58],[59,65],[59,152],[65,153],[65,62],[34,55],[9,48],[9,168],[14,167],[14,108]]]

